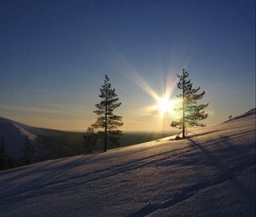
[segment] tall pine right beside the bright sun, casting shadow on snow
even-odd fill
[[[177,97],[182,98],[183,104],[183,106],[177,110],[183,111],[183,117],[181,117],[178,121],[173,121],[171,126],[174,128],[182,128],[184,138],[185,128],[193,126],[206,126],[205,124],[199,122],[208,117],[208,114],[203,111],[208,106],[208,104],[197,104],[197,100],[201,100],[203,98],[205,91],[198,93],[200,87],[198,89],[193,89],[193,83],[188,80],[189,73],[185,71],[185,69],[183,69],[182,74],[177,75],[177,77],[179,78],[177,88],[182,89],[183,91],[182,94],[177,95]]]

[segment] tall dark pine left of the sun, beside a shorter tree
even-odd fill
[[[104,83],[102,84],[101,94],[99,95],[102,101],[96,104],[97,120],[92,124],[93,128],[102,128],[104,130],[104,151],[108,150],[108,142],[118,144],[119,135],[122,134],[118,128],[121,127],[122,117],[114,115],[113,111],[121,106],[121,102],[115,93],[115,89],[111,88],[111,83],[106,75]],[[99,132],[101,134],[102,132]]]

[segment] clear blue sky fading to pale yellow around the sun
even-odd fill
[[[162,95],[183,67],[206,91],[207,123],[255,107],[251,0],[1,1],[0,32],[2,117],[83,130],[108,74],[124,129],[154,130],[159,117],[143,107],[155,100],[138,77]]]

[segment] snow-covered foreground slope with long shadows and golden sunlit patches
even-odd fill
[[[0,216],[255,216],[255,113],[0,172]]]

